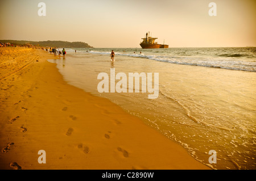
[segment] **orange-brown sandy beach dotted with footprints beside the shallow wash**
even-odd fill
[[[0,169],[209,169],[108,99],[68,85],[47,59],[0,48]]]

